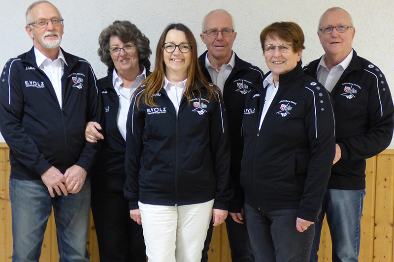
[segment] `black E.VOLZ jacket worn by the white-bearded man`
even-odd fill
[[[98,145],[85,123],[99,120],[96,76],[82,58],[63,51],[62,107],[34,49],[7,61],[0,81],[0,130],[10,147],[11,178],[38,180],[50,167],[89,170]]]

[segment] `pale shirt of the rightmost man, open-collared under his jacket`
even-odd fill
[[[349,53],[349,55],[342,60],[339,64],[335,65],[328,70],[326,65],[326,54],[320,59],[320,62],[317,66],[317,80],[328,90],[331,92],[341,77],[342,73],[348,68],[350,61],[353,58],[353,49]]]

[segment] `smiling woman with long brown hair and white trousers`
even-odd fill
[[[211,218],[216,226],[227,217],[225,114],[219,89],[201,73],[193,33],[167,26],[127,120],[125,196],[149,261],[199,262]]]

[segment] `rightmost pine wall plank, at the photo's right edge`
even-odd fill
[[[394,157],[381,154],[377,157],[374,261],[391,261],[393,258],[394,214]]]

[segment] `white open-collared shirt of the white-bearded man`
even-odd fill
[[[35,62],[39,69],[44,73],[51,81],[53,89],[55,90],[56,97],[58,98],[59,106],[62,108],[62,76],[67,65],[65,56],[62,50],[59,48],[58,58],[52,61],[52,59],[45,57],[38,49],[34,47]]]

